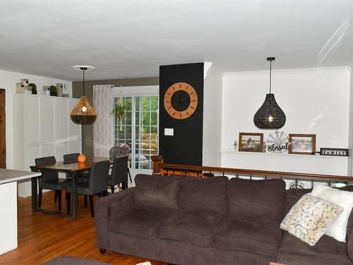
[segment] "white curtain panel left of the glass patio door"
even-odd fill
[[[109,158],[109,150],[114,146],[114,126],[112,106],[114,104],[113,85],[93,86],[93,107],[97,119],[93,124],[93,155]]]

